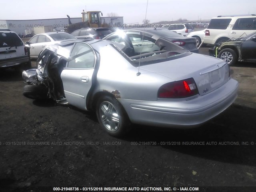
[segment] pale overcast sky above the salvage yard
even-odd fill
[[[103,16],[116,13],[124,23],[142,23],[147,0],[7,0],[2,3],[0,20],[82,17],[82,10],[100,10]],[[147,19],[208,20],[218,15],[256,14],[255,0],[148,0]]]

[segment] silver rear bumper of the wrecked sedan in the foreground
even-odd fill
[[[133,123],[186,128],[200,125],[220,114],[236,100],[237,91],[238,82],[231,79],[220,88],[188,101],[184,99],[118,100]]]

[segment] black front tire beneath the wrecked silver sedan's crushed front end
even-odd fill
[[[30,99],[48,99],[48,88],[38,85],[25,85],[22,94]]]

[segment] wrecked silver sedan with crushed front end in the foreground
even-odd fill
[[[23,94],[66,98],[70,105],[94,111],[112,136],[127,133],[131,122],[199,125],[236,99],[238,82],[230,78],[225,61],[163,38],[152,46],[159,49],[136,56],[125,54],[126,45],[106,40],[49,46],[38,57],[38,69],[23,72],[28,82]]]

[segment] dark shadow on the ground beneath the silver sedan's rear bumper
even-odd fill
[[[256,166],[254,114],[255,109],[233,104],[198,128],[167,129],[135,125],[133,132],[123,139],[129,142],[156,141],[158,145],[162,143],[163,148],[183,154]]]

